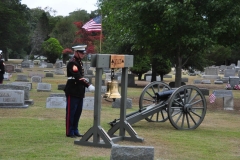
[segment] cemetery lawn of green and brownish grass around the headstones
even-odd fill
[[[35,68],[32,70],[34,71]],[[24,74],[27,72],[27,69],[23,70]],[[16,74],[12,74],[10,82],[15,81]],[[191,78],[198,77],[189,77],[188,84],[192,84]],[[166,83],[173,81],[173,79],[166,80]],[[46,99],[50,93],[63,93],[57,90],[57,85],[64,84],[66,77],[54,75],[54,78],[43,78],[42,81],[51,83],[52,91],[37,92],[37,84],[33,83],[30,91],[33,105],[25,109],[0,108],[0,159],[110,159],[110,148],[75,145],[74,139],[65,137],[65,109],[46,108]],[[214,89],[224,89],[224,85],[200,84],[198,87],[208,88],[210,93]],[[127,109],[127,113],[139,109],[138,98],[142,89],[128,88],[128,98],[133,100],[133,107]],[[240,93],[238,92],[240,91],[233,91],[234,111],[223,110],[220,99],[210,104],[206,96],[207,114],[202,124],[195,130],[176,130],[169,121],[153,123],[141,120],[132,127],[139,137],[144,138],[143,142],[120,141],[116,144],[153,146],[155,160],[239,159]],[[86,96],[94,95],[87,93]],[[119,118],[119,115],[119,109],[112,108],[111,103],[102,101],[100,125],[105,131],[110,129],[108,123]],[[81,133],[87,132],[92,126],[93,111],[83,110],[79,124]]]

